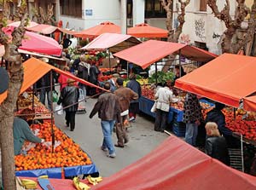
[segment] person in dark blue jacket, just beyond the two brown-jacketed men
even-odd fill
[[[136,92],[138,95],[138,99],[139,99],[142,96],[141,84],[137,82],[136,75],[134,73],[131,73],[129,78],[130,78],[130,81],[127,83],[126,87],[131,89],[132,91]],[[130,118],[129,120],[130,121],[135,121],[137,113],[140,112],[138,99],[132,100],[130,102],[130,107],[129,107],[129,118]]]

